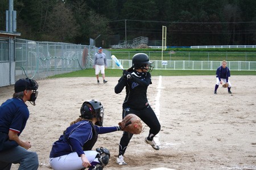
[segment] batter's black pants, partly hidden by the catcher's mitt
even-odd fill
[[[161,128],[160,123],[155,115],[155,112],[153,111],[149,104],[142,110],[134,110],[129,107],[123,107],[122,118],[124,118],[127,114],[130,113],[136,114],[150,128],[148,135],[150,135],[151,138],[159,133]],[[125,150],[132,137],[133,134],[123,131],[123,135],[119,143],[119,155],[125,154]]]

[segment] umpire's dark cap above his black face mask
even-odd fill
[[[36,90],[37,87],[34,86],[33,82],[31,79],[19,79],[16,81],[14,84],[14,91],[16,93],[22,92],[24,90]]]

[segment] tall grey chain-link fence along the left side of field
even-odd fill
[[[89,45],[0,39],[0,87],[14,84],[19,78],[36,80],[92,68],[97,52],[98,48]],[[110,58],[108,50],[104,53]]]

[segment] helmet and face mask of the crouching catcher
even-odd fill
[[[85,119],[92,119],[93,117],[97,118],[97,122],[95,125],[102,126],[103,124],[103,117],[104,117],[104,107],[100,103],[100,101],[97,100],[88,100],[85,101],[80,109],[82,118]]]

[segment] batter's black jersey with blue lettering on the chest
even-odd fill
[[[150,73],[139,73],[138,71],[131,72],[133,78],[126,79],[122,76],[115,86],[115,93],[119,94],[126,87],[125,101],[123,107],[129,106],[133,109],[142,109],[146,107],[147,87],[152,84]]]

